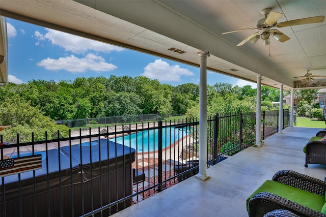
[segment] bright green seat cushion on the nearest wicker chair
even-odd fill
[[[319,137],[320,138],[320,137]],[[321,212],[325,204],[325,197],[306,192],[301,189],[291,187],[287,184],[282,184],[273,180],[266,180],[260,187],[247,199],[246,206],[248,211],[249,200],[259,192],[269,192],[280,197],[286,198],[298,204],[304,205],[315,211]]]

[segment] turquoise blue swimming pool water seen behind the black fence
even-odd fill
[[[174,127],[163,128],[162,130],[162,148],[169,147],[172,143],[179,140],[189,133],[184,129],[175,129]],[[112,138],[110,141],[117,142],[126,146],[131,145],[138,152],[148,152],[158,150],[158,129],[146,130],[131,135]]]

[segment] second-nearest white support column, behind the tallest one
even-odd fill
[[[256,147],[261,147],[261,75],[257,75],[257,94],[256,94]]]

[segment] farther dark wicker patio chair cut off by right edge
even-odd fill
[[[319,131],[316,134],[316,137],[324,137],[326,131]],[[316,138],[313,137],[313,138]],[[320,139],[321,140],[321,139]],[[304,152],[306,153],[306,163],[305,167],[308,167],[308,164],[323,164],[326,165],[326,143],[320,140],[311,139],[305,146]]]

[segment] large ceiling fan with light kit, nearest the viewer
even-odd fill
[[[263,45],[269,45],[270,43],[270,37],[273,36],[276,40],[279,42],[285,42],[289,40],[290,38],[280,32],[278,29],[271,29],[273,27],[286,27],[286,26],[292,26],[292,25],[302,25],[302,24],[309,24],[309,23],[317,23],[324,21],[324,16],[316,16],[316,17],[307,17],[307,18],[301,18],[296,20],[289,20],[285,22],[278,23],[277,20],[283,16],[282,13],[271,11],[270,8],[265,8],[261,11],[261,14],[265,16],[265,18],[260,19],[256,22],[255,27],[252,28],[243,28],[238,30],[233,30],[231,32],[222,33],[222,35],[229,34],[229,33],[236,33],[240,32],[242,30],[254,30],[258,29],[259,32],[256,32],[246,39],[244,39],[242,42],[237,44],[237,46],[241,46],[244,43],[251,41],[253,44],[255,44],[259,38],[263,40]]]

